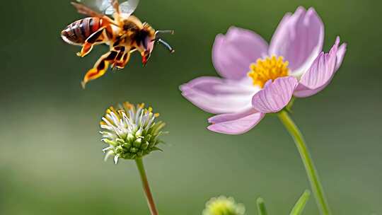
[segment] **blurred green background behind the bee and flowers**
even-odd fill
[[[255,214],[287,214],[308,188],[294,142],[276,117],[241,136],[207,131],[211,115],[178,90],[216,76],[211,48],[231,25],[270,40],[284,13],[314,6],[325,23],[325,50],[348,42],[342,68],[318,95],[297,100],[294,119],[306,136],[333,214],[382,214],[381,1],[141,0],[136,15],[176,30],[142,68],[134,55],[82,90],[80,81],[107,47],[86,58],[61,30],[82,16],[69,0],[4,1],[1,11],[0,214],[149,214],[134,162],[103,162],[98,122],[108,105],[146,102],[168,123],[164,152],[145,159],[161,214],[201,214],[220,194]],[[305,214],[318,214],[313,198]]]

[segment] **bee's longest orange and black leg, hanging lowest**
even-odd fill
[[[103,76],[108,70],[109,64],[115,62],[115,57],[117,57],[118,52],[110,51],[98,59],[96,64],[94,64],[93,69],[90,69],[86,75],[83,77],[81,82],[82,87],[85,88],[86,83],[91,80],[98,79],[100,76]]]

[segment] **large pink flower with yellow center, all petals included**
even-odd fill
[[[208,129],[243,134],[267,113],[279,112],[292,96],[314,95],[328,86],[342,64],[346,44],[340,37],[322,52],[324,26],[313,8],[299,7],[279,23],[270,45],[260,35],[231,27],[217,35],[212,49],[223,78],[199,77],[180,86],[182,95],[204,111]]]

